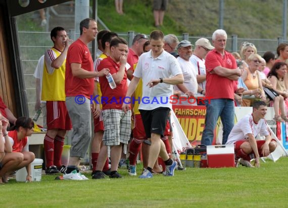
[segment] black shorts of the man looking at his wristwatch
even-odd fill
[[[139,112],[147,138],[151,138],[151,133],[160,134],[163,137],[170,109],[159,107],[154,110],[139,109]]]

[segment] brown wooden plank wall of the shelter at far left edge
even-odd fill
[[[6,106],[12,111],[14,116],[17,118],[17,103],[15,103],[15,91],[12,80],[12,70],[9,60],[8,44],[5,31],[5,20],[3,17],[4,8],[0,6],[0,96],[5,102]]]

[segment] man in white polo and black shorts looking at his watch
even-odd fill
[[[173,162],[165,149],[163,136],[168,114],[172,110],[169,97],[173,94],[174,84],[183,83],[182,71],[175,57],[163,49],[164,34],[160,30],[154,30],[150,34],[152,50],[139,57],[137,67],[133,73],[133,79],[128,87],[122,109],[130,110],[129,97],[134,92],[140,78],[143,81],[142,97],[139,111],[142,117],[147,138],[151,138],[151,147],[148,159],[148,167],[139,178],[152,178],[152,168],[158,159],[158,155],[166,165],[165,176],[173,176],[177,162]],[[166,101],[166,99],[168,99]],[[131,100],[133,101],[133,99]],[[135,101],[135,100],[134,100]]]

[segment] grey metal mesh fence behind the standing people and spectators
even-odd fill
[[[73,37],[70,38],[74,40],[79,36],[79,34],[75,34],[73,30],[69,31],[69,34],[73,35]],[[134,35],[135,33],[133,31],[128,31],[127,33],[119,33],[119,36],[128,41],[129,46],[132,44]],[[50,38],[50,32],[19,31],[18,37],[20,44],[22,70],[24,74],[25,91],[27,94],[27,106],[29,110],[29,116],[32,117],[35,113],[34,106],[36,101],[35,78],[33,77],[33,74],[37,66],[38,59],[44,54],[46,49],[52,47],[53,43]],[[201,37],[191,37],[188,33],[183,33],[182,36],[178,36],[179,40],[186,39],[193,44],[199,38]],[[210,41],[212,39],[211,37],[206,38]],[[239,46],[244,41],[254,43],[258,49],[258,54],[263,55],[267,50],[275,51],[279,42],[282,42],[282,39],[249,39],[237,38],[236,35],[232,35],[227,39],[226,49],[228,51],[238,51]],[[41,116],[37,123],[40,125],[43,124]]]

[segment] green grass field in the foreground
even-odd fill
[[[187,168],[174,177],[151,179],[129,176],[124,169],[122,179],[11,179],[0,185],[0,207],[287,207],[287,163],[280,158],[261,161],[260,168]]]

